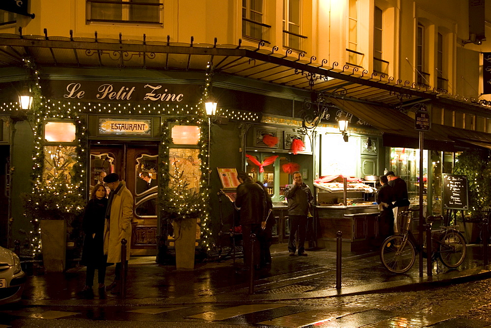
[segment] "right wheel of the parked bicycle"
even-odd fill
[[[457,230],[448,230],[442,233],[438,248],[441,262],[449,268],[457,268],[464,262],[466,247],[464,237]]]

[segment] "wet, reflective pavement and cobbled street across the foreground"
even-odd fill
[[[421,284],[417,262],[408,273],[393,274],[377,254],[345,253],[340,292],[335,290],[334,253],[287,254],[276,251],[272,267],[256,272],[254,295],[247,294],[247,272],[236,271],[232,261],[176,271],[152,259],[132,259],[125,300],[109,293],[101,297],[97,290],[91,297],[79,293],[84,268],[31,276],[24,300],[0,308],[0,327],[139,327],[143,322],[146,327],[491,325],[491,275],[482,270],[481,246],[468,246],[466,261],[457,270],[434,270],[436,281],[455,275],[441,284]],[[108,269],[107,283],[113,267]],[[480,275],[455,283],[469,271]]]

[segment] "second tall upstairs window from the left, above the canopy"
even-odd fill
[[[301,40],[306,36],[300,34],[301,1],[283,0],[283,46],[301,49]]]

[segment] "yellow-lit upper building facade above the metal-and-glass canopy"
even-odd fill
[[[335,69],[355,75],[376,73],[382,81],[391,82],[392,77],[394,82],[409,82],[404,85],[445,90],[440,93],[451,97],[490,99],[481,95],[481,54],[491,46],[485,40],[472,40],[469,19],[480,18],[469,15],[469,1],[104,2],[31,0],[28,10],[35,18],[2,12],[0,32],[19,33],[22,27],[24,35],[43,36],[46,29],[51,39],[92,40],[96,36],[101,42],[119,37],[129,43],[145,39],[148,43],[239,45],[241,40],[242,46],[257,47],[263,42],[261,48],[273,53],[311,58],[323,66],[337,64]],[[486,24],[489,31],[489,23],[479,24]],[[443,109],[436,116],[449,124]],[[451,116],[453,126],[490,131],[487,115],[480,119]]]

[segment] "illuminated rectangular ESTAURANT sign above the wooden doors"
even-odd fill
[[[152,120],[99,118],[99,134],[150,137],[152,135]]]

